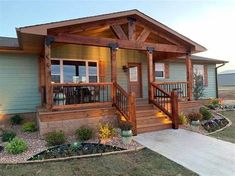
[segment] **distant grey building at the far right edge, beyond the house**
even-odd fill
[[[235,86],[235,70],[226,70],[218,74],[218,85]]]

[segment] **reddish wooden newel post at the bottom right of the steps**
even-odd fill
[[[178,93],[176,91],[171,92],[171,113],[172,113],[172,128],[179,128],[179,112],[178,112]]]

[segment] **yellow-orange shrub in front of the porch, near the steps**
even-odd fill
[[[115,129],[109,123],[100,124],[99,137],[100,139],[109,139],[115,135]]]

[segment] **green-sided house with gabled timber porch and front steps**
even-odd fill
[[[102,120],[133,124],[135,134],[178,128],[178,113],[216,96],[216,64],[206,49],[141,13],[123,11],[16,29],[1,38],[0,114],[36,114],[40,133]]]

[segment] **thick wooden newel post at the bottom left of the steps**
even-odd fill
[[[137,135],[137,123],[136,123],[136,97],[135,93],[131,92],[128,95],[128,112],[130,117],[130,122],[132,124],[133,135]]]

